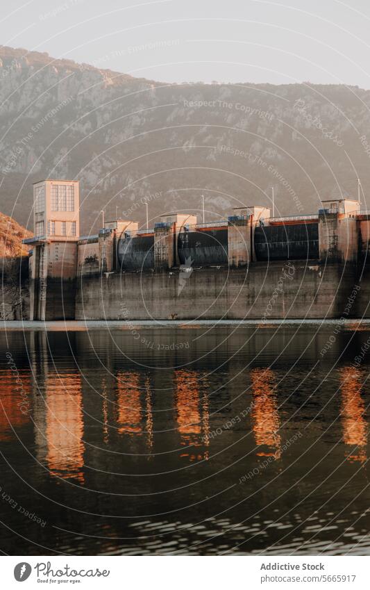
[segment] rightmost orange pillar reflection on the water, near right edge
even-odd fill
[[[348,454],[348,461],[367,459],[367,422],[364,418],[365,406],[361,398],[361,373],[354,367],[339,370],[342,391],[343,440],[346,445],[358,447],[355,453]]]

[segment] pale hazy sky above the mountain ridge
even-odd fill
[[[369,0],[1,4],[3,45],[133,76],[370,88]]]

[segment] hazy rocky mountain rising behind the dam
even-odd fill
[[[370,92],[345,85],[165,84],[0,48],[1,209],[31,227],[31,184],[81,181],[82,233],[167,211],[312,213],[370,189]],[[367,208],[362,197],[362,208]],[[370,208],[370,207],[369,207]]]

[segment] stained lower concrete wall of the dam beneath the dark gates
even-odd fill
[[[194,268],[180,290],[179,274],[79,277],[76,319],[340,318],[356,284],[354,265],[318,261]],[[361,315],[361,305],[351,305],[348,317]]]

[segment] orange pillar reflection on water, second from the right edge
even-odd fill
[[[251,370],[252,394],[253,394],[253,432],[255,443],[267,445],[275,449],[274,452],[258,452],[258,456],[281,456],[281,438],[278,434],[280,420],[278,415],[278,402],[274,393],[274,371],[269,368],[255,368]]]

